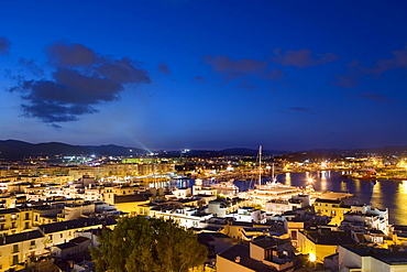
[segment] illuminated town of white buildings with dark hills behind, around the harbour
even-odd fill
[[[207,255],[189,271],[407,271],[407,226],[391,224],[391,209],[346,204],[352,192],[317,191],[309,174],[407,182],[407,148],[156,152],[9,140],[0,152],[0,271],[96,271],[98,237],[136,216],[194,231]],[[276,178],[293,173],[307,173],[304,186]]]

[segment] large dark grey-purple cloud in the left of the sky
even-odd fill
[[[120,99],[128,84],[151,83],[140,63],[102,56],[81,44],[56,42],[47,47],[53,73],[47,79],[20,78],[10,91],[19,91],[24,116],[43,122],[75,121],[98,111],[96,106]],[[22,61],[32,65],[30,61]]]

